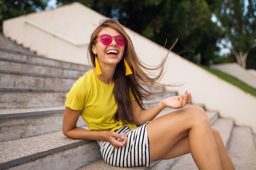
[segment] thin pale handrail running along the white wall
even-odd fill
[[[36,27],[37,29],[40,29],[40,30],[42,30],[42,31],[45,31],[46,33],[49,33],[49,34],[51,34],[51,35],[57,37],[57,38],[60,38],[61,40],[64,40],[64,41],[66,41],[66,42],[69,42],[69,43],[72,44],[72,45],[79,46],[79,47],[84,47],[84,46],[87,46],[87,45],[88,45],[87,42],[74,42],[73,40],[70,40],[69,38],[67,38],[67,37],[65,37],[65,36],[63,36],[63,35],[60,35],[60,34],[54,32],[54,31],[52,31],[52,30],[50,30],[50,29],[47,29],[47,28],[45,28],[45,27],[43,27],[43,26],[40,26],[40,25],[36,24],[35,22],[32,22],[31,20],[28,20],[27,18],[23,18],[23,21],[24,21],[25,23],[27,23],[27,24],[30,24],[30,25]]]

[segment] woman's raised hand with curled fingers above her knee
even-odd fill
[[[184,95],[180,96],[172,96],[164,99],[162,103],[169,108],[183,108],[186,106],[186,104],[189,104],[191,102],[191,93],[188,93],[188,91],[185,91]]]

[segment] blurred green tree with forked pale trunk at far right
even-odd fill
[[[216,12],[232,44],[231,53],[243,68],[250,51],[256,47],[255,11],[256,0],[223,0]]]

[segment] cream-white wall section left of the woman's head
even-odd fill
[[[16,40],[19,44],[36,51],[38,55],[88,64],[88,42],[95,29],[94,25],[98,25],[103,18],[106,17],[80,3],[73,3],[5,20],[3,33],[11,40]],[[58,36],[82,45],[74,45]]]

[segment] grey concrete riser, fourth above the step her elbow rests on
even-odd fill
[[[1,60],[0,58],[0,70],[3,73],[12,73],[17,75],[25,74],[36,74],[42,77],[59,77],[78,79],[84,75],[85,71],[71,70],[68,68],[61,68],[49,65],[43,65],[38,63],[24,62],[19,60]]]

